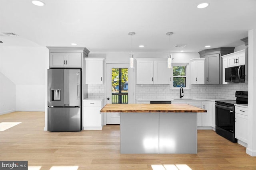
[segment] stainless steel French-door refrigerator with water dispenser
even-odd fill
[[[48,131],[80,131],[81,70],[48,69]]]

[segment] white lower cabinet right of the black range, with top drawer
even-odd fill
[[[248,109],[235,106],[235,138],[240,145],[247,147]]]

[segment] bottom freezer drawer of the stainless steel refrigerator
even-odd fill
[[[48,131],[80,130],[80,107],[48,107]]]

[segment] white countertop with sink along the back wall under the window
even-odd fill
[[[181,100],[180,99],[177,99],[177,98],[136,98],[137,101],[141,102],[141,101],[145,101],[145,102],[148,102],[148,101],[212,101],[212,102],[215,102],[216,100],[230,100],[230,99],[224,99],[224,98],[189,98],[189,99],[186,99],[186,98],[182,98]]]

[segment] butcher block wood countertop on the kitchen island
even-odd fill
[[[148,113],[148,112],[207,112],[189,104],[106,104],[100,112]]]

